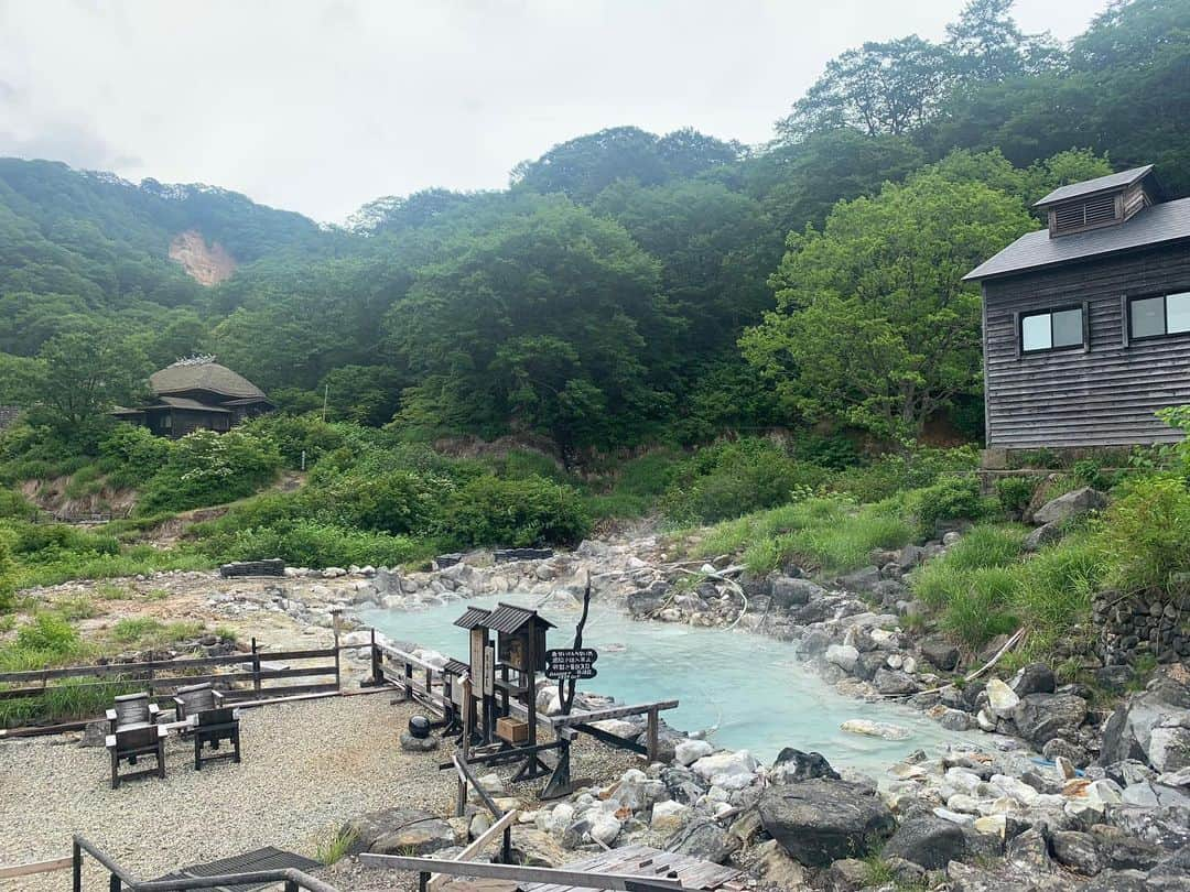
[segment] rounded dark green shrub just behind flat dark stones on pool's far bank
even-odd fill
[[[478,477],[451,494],[440,534],[458,547],[572,545],[590,530],[580,494],[540,477]]]

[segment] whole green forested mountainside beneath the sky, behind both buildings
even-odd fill
[[[48,364],[83,333],[129,379],[213,352],[287,408],[328,392],[336,417],[571,457],[774,425],[915,436],[939,416],[976,438],[966,269],[1060,183],[1152,162],[1190,194],[1190,0],[1113,2],[1069,46],[1010,6],[840,55],[769,145],[615,127],[505,190],[383,197],[343,230],[0,159],[0,402],[62,387]],[[169,259],[190,231],[234,275],[203,287]]]

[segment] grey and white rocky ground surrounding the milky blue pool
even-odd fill
[[[1078,498],[1089,497],[1067,502]],[[1094,691],[1060,685],[1041,664],[954,684],[959,653],[912,630],[919,623],[904,617],[921,607],[903,577],[962,534],[873,553],[871,566],[828,580],[797,567],[750,578],[726,558],[682,561],[663,541],[640,536],[503,564],[490,554],[450,555],[422,573],[290,569],[277,580],[207,578],[203,586],[186,574],[178,584],[201,590],[195,605],[219,622],[275,622],[317,639],[340,608],[412,609],[503,591],[577,601],[590,579],[595,597],[639,618],[794,640],[826,680],[853,696],[896,697],[948,729],[984,731],[979,745],[916,753],[872,779],[796,748],[763,766],[670,729],[664,762],[562,803],[525,803],[519,849],[538,863],[646,842],[740,865],[756,884],[782,888],[1190,888],[1190,671],[1169,662],[1129,693],[1139,684],[1128,665],[1079,652],[1072,657],[1094,677]],[[365,637],[349,632],[344,640]],[[362,668],[365,659],[349,664]],[[539,704],[557,709],[552,689],[541,689]],[[897,730],[868,724],[851,730]],[[643,733],[631,722],[609,730]],[[358,847],[386,850],[383,829],[406,817],[361,817]],[[355,859],[332,873],[344,887],[372,887]]]

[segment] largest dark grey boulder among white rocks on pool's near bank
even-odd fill
[[[772,786],[760,794],[758,808],[765,831],[808,867],[863,856],[896,828],[878,797],[844,780]]]

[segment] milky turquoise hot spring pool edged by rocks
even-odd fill
[[[497,601],[534,607],[527,595],[456,601],[422,610],[367,610],[359,618],[394,641],[416,642],[466,659],[466,632],[451,623],[468,605],[490,608]],[[574,602],[571,602],[574,603]],[[552,603],[540,614],[557,624],[550,647],[569,647],[578,620],[577,605]],[[663,712],[685,731],[715,728],[710,740],[729,749],[749,749],[771,761],[782,747],[818,750],[833,765],[847,765],[881,777],[884,768],[915,749],[927,753],[960,735],[947,731],[916,710],[844,697],[804,667],[796,646],[746,632],[634,622],[625,614],[591,604],[583,645],[599,651],[599,676],[580,690],[624,703],[677,699]],[[910,731],[888,741],[839,730],[848,718],[890,722]]]

